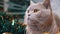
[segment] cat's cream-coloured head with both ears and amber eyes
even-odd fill
[[[51,15],[51,6],[49,1],[43,3],[30,2],[30,6],[26,10],[26,14],[29,19],[34,20],[35,18],[45,19]]]

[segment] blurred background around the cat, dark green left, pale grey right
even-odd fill
[[[43,0],[32,0],[42,2]],[[25,34],[24,14],[30,0],[0,0],[0,34]],[[60,17],[60,0],[51,0],[53,12]]]

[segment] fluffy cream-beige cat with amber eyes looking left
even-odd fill
[[[24,24],[27,25],[26,34],[56,34],[59,32],[60,18],[52,12],[50,0],[43,3],[31,1],[25,12]]]

